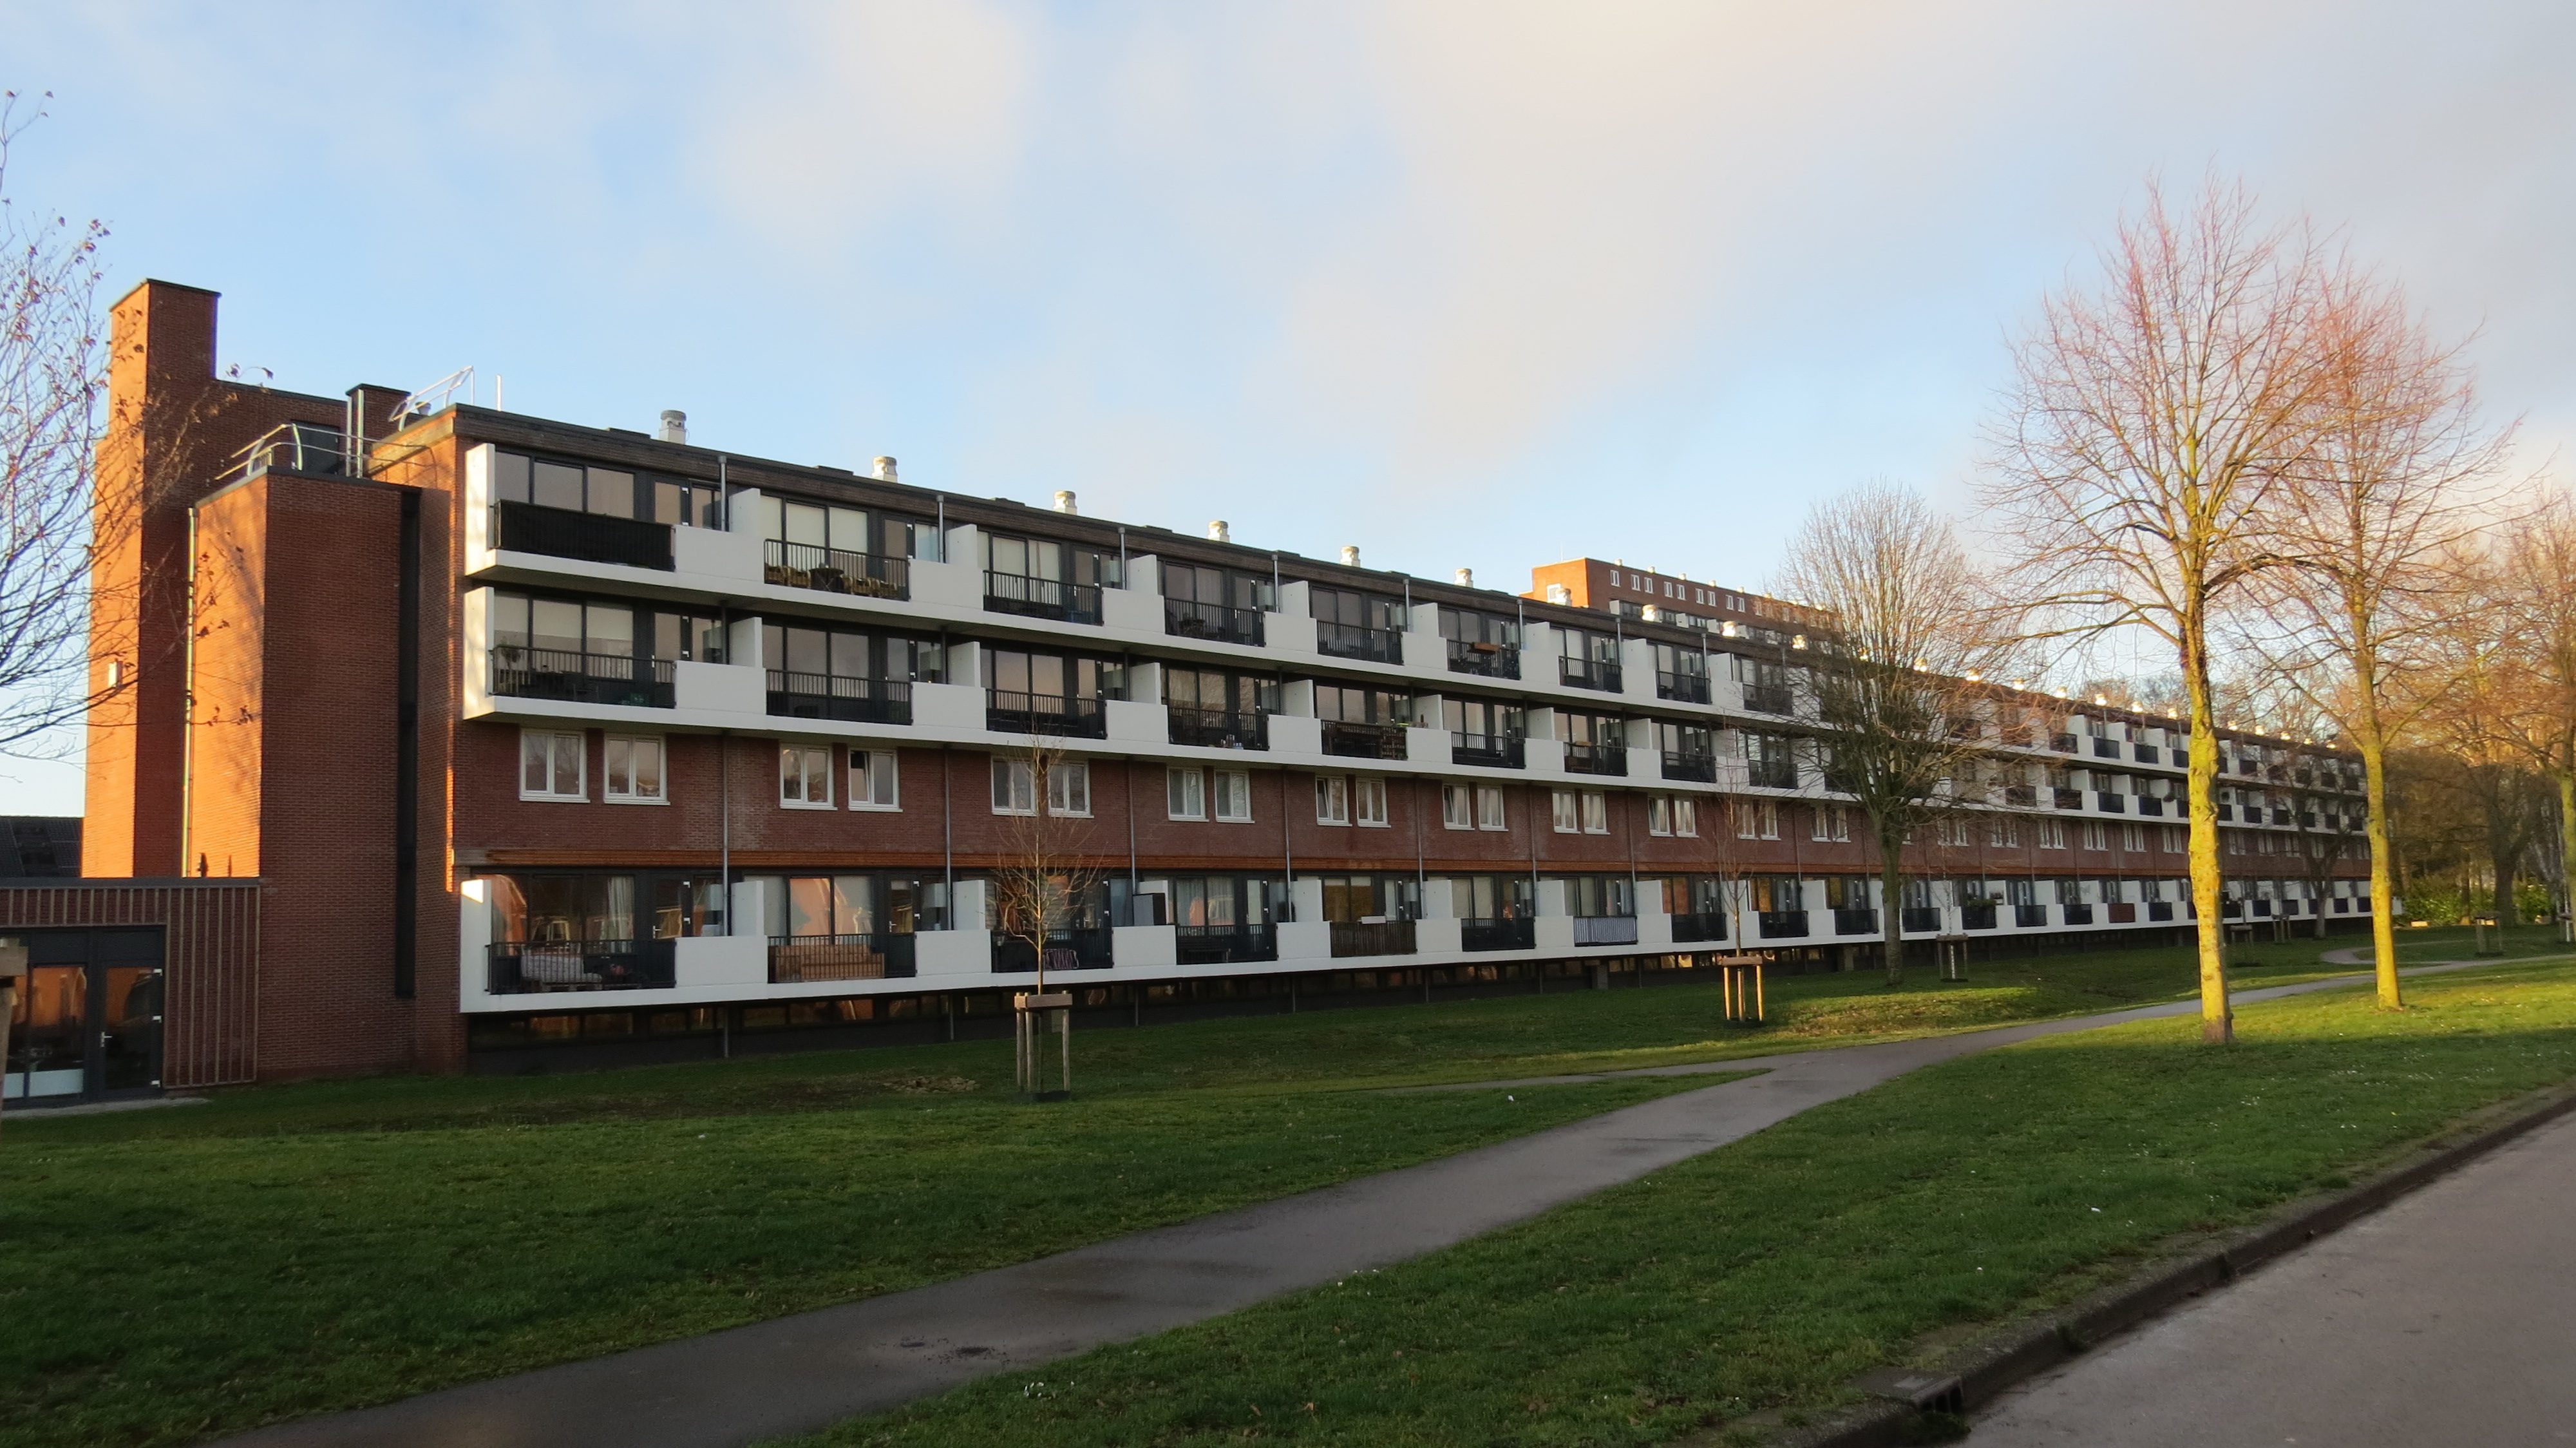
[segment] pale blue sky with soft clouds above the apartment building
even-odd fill
[[[1965,510],[2004,338],[2244,175],[2576,438],[2576,8],[62,5],[10,165],[281,386],[513,410],[1525,587],[1759,587]],[[484,384],[489,386],[489,384]],[[489,392],[484,392],[489,399]],[[0,812],[77,768],[0,760]]]

